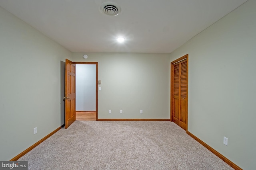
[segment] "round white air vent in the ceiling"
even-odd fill
[[[100,10],[108,16],[117,16],[121,12],[121,8],[114,2],[104,2],[100,6]]]

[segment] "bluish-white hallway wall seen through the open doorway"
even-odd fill
[[[96,111],[96,64],[76,64],[76,110]]]

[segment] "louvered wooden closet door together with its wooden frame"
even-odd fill
[[[171,63],[171,121],[187,130],[188,55]]]

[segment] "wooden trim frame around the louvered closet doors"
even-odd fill
[[[188,54],[184,55],[183,57],[180,57],[179,59],[176,59],[171,62],[171,114],[170,114],[170,121],[173,121],[173,112],[174,112],[174,64],[178,63],[180,61],[183,61],[187,59],[187,111],[186,111],[186,131],[188,131]]]

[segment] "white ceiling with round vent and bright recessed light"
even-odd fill
[[[107,1],[121,7],[118,16],[100,12]],[[171,53],[246,1],[0,0],[0,6],[72,52]]]

